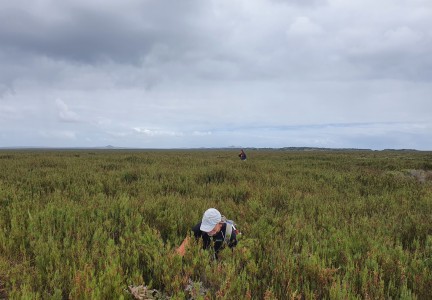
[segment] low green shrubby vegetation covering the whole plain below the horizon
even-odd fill
[[[432,153],[0,151],[0,299],[430,299]],[[220,259],[175,248],[215,207]]]

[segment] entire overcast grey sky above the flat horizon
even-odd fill
[[[431,53],[431,0],[0,0],[0,148],[432,150]]]

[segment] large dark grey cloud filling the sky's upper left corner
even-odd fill
[[[190,42],[187,17],[193,15],[193,1],[145,1],[124,8],[77,3],[53,2],[39,14],[25,6],[0,10],[2,47],[80,63],[139,63],[159,43],[181,49]]]

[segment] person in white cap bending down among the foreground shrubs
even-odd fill
[[[210,249],[213,240],[214,258],[218,258],[218,253],[227,245],[233,249],[237,245],[237,230],[232,221],[227,220],[215,208],[209,208],[204,212],[200,223],[191,228],[195,240],[202,238],[203,249]],[[186,248],[190,244],[191,237],[186,237],[176,252],[184,256]]]

